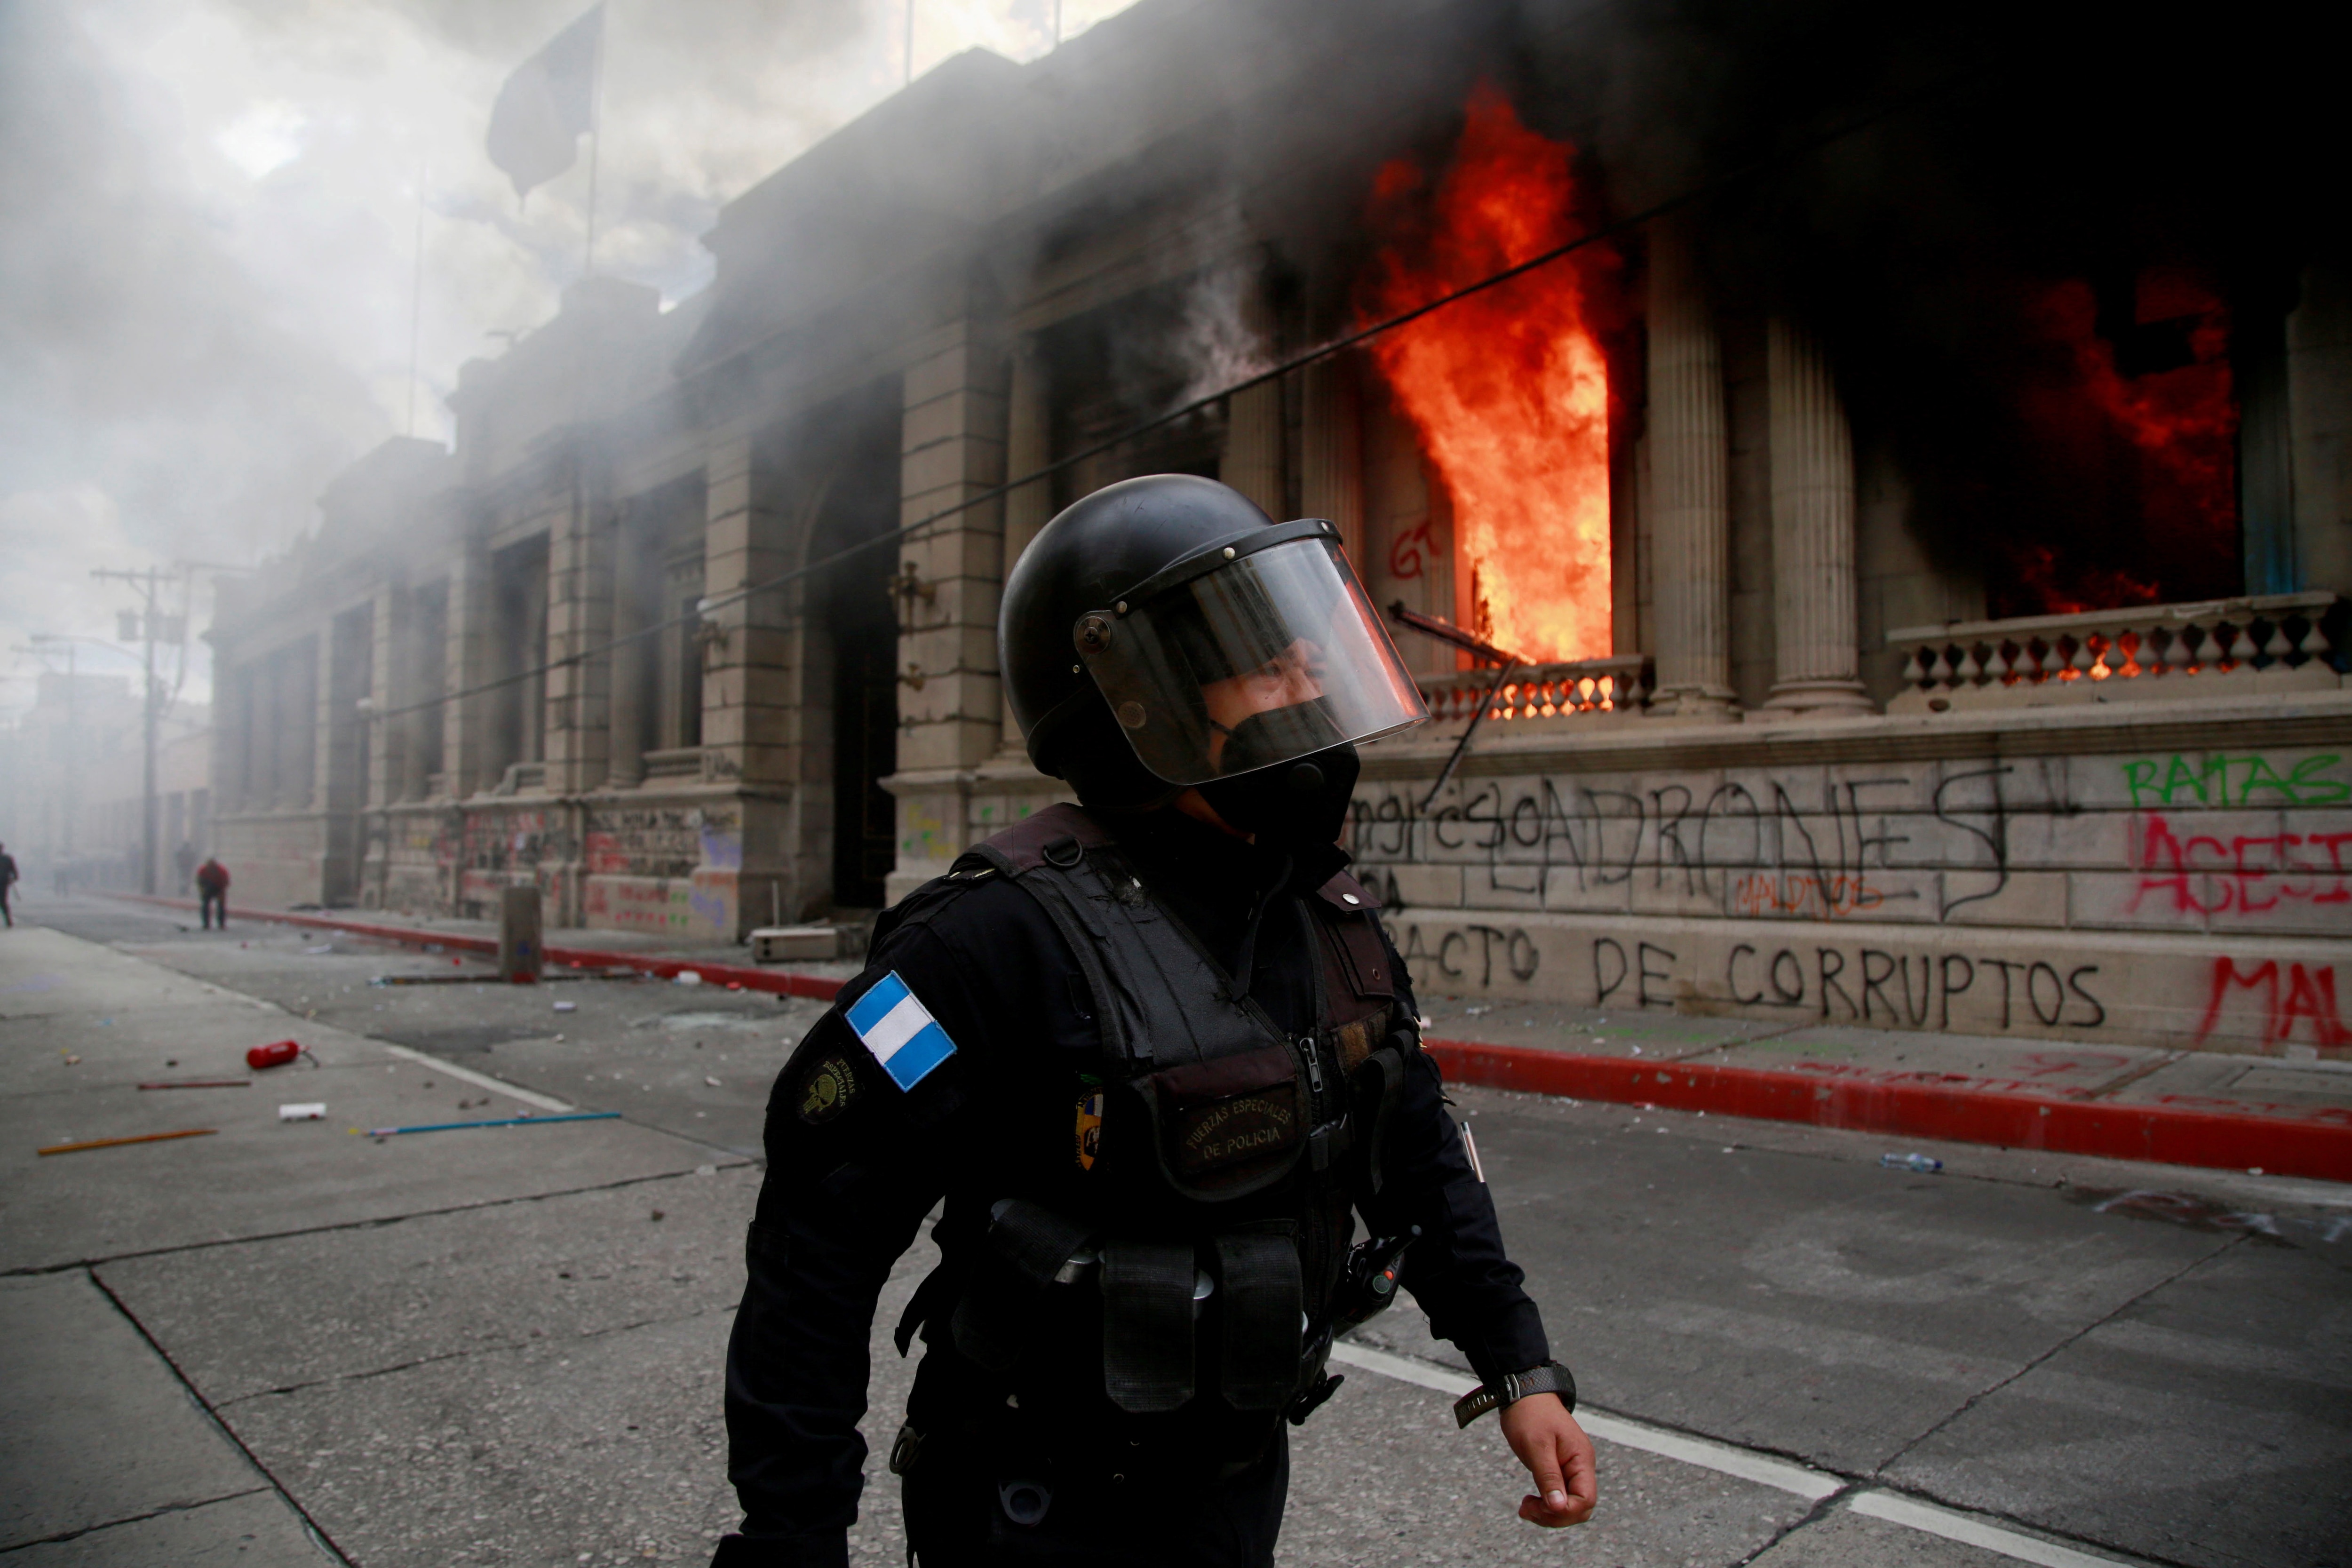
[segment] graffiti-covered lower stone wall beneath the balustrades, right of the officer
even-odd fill
[[[2204,717],[1882,719],[1679,764],[1510,736],[1425,811],[1423,743],[1376,750],[1348,844],[1430,992],[2343,1053],[2352,743]]]

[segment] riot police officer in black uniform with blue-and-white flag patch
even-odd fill
[[[997,639],[1082,804],[889,910],[776,1079],[717,1563],[847,1561],[875,1300],[934,1208],[889,1455],[924,1568],[1270,1563],[1284,1420],[1399,1281],[1484,1378],[1463,1425],[1503,1406],[1522,1519],[1583,1521],[1573,1382],[1336,846],[1355,745],[1425,719],[1336,529],[1127,480],[1040,531]]]

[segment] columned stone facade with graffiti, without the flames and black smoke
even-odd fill
[[[454,454],[372,454],[223,607],[240,889],[487,912],[536,882],[553,924],[680,938],[898,898],[1061,799],[1007,719],[997,597],[1134,473],[1329,515],[1378,604],[1475,621],[1367,355],[1108,437],[1359,320],[1362,193],[1505,63],[1529,122],[1602,115],[1578,167],[1613,207],[1670,193],[1578,75],[1618,24],[1508,14],[1143,0],[1030,66],[948,61],[779,169],[722,212],[706,294],[576,284],[468,367]],[[1291,113],[1308,82],[1324,110]],[[1830,242],[1773,237],[1778,273]],[[1757,244],[1712,209],[1618,242],[1611,656],[1489,701],[1404,642],[1439,722],[1369,750],[1350,849],[1423,987],[2343,1053],[2338,259],[2279,249],[2291,303],[2232,327],[2274,329],[2286,388],[2239,437],[2291,491],[2230,524],[2249,569],[1987,618],[2016,557],[1936,522],[1957,491],[1886,411],[1900,367]]]

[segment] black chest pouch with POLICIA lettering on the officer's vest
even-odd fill
[[[1178,1197],[1221,1204],[1279,1182],[1305,1150],[1305,1095],[1289,1046],[1134,1079],[1160,1178]]]

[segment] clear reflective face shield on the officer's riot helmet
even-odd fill
[[[1080,616],[1073,637],[1136,757],[1178,785],[1430,717],[1336,529],[1319,520],[1176,562]]]

